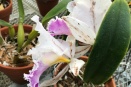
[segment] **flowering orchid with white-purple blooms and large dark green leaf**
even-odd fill
[[[101,3],[103,3],[102,7]],[[39,18],[33,17],[33,21],[36,22],[35,29],[40,36],[38,37],[39,45],[29,51],[29,54],[35,58],[35,67],[30,74],[24,75],[31,87],[54,85],[69,68],[74,76],[79,75],[79,70],[85,63],[78,58],[87,53],[91,47],[83,80],[95,85],[108,83],[129,47],[130,12],[125,0],[113,2],[111,0],[101,2],[76,0],[69,2],[67,8],[69,15],[51,19],[47,31],[39,22]],[[42,22],[44,23],[47,19],[43,18]],[[63,34],[67,35],[66,40],[53,37]],[[82,46],[77,45],[76,40],[82,42]],[[56,77],[39,84],[40,75],[48,67],[60,61],[68,64]]]

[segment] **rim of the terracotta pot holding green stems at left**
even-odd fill
[[[13,25],[13,27],[18,27],[18,24]],[[23,27],[32,28],[31,25],[27,25],[27,24],[24,24]],[[0,28],[0,31],[7,30],[7,29],[8,29],[8,27],[3,27],[3,28]],[[29,68],[29,67],[32,67],[32,66],[33,66],[33,62],[31,62],[30,64],[28,64],[26,66],[20,66],[20,67],[19,66],[18,67],[10,67],[10,66],[5,66],[3,64],[0,64],[0,67],[7,68],[7,69],[17,69],[17,70]]]

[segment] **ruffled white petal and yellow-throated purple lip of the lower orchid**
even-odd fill
[[[69,63],[70,60],[63,56],[68,52],[68,44],[62,45],[52,37],[43,28],[38,16],[34,16],[32,20],[36,22],[35,30],[40,33],[40,36],[38,37],[38,45],[28,52],[28,55],[32,55],[34,67],[29,74],[24,74],[24,78],[29,81],[29,87],[39,87],[39,78],[47,68],[59,62]]]

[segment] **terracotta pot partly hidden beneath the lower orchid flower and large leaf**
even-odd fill
[[[83,60],[84,62],[86,62],[88,60],[87,56],[81,56],[80,58],[78,58],[80,60]],[[56,76],[59,71],[61,71],[67,64],[65,63],[61,63],[56,67],[56,71],[54,72],[54,76]],[[116,87],[115,81],[113,78],[109,79],[105,84],[104,87]],[[54,85],[54,87],[58,87],[57,84]]]

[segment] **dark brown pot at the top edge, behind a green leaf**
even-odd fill
[[[40,14],[45,16],[59,0],[36,0]]]

